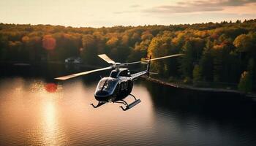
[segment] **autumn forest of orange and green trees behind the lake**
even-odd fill
[[[111,28],[0,23],[1,61],[63,62],[80,56],[84,64],[99,65],[100,53],[118,62],[184,53],[155,61],[152,69],[194,85],[240,82],[238,88],[249,92],[256,84],[256,20]]]

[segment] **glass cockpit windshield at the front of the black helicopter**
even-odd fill
[[[112,93],[115,90],[116,84],[118,80],[113,78],[103,78],[99,81],[97,85],[97,91],[107,91],[108,93]]]

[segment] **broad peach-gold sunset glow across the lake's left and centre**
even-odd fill
[[[1,83],[7,90],[0,91],[1,95],[8,97],[0,99],[0,123],[8,127],[4,131],[4,137],[12,139],[7,143],[72,145],[83,142],[95,145],[100,143],[99,140],[112,141],[110,137],[134,139],[140,132],[132,134],[133,131],[144,125],[154,124],[151,122],[154,119],[149,100],[144,99],[132,112],[124,114],[119,108],[120,104],[106,104],[99,109],[91,107],[91,103],[97,103],[94,99],[95,85],[86,86],[81,81],[63,85],[43,80],[15,79],[15,84],[8,82],[11,80]],[[134,93],[142,99],[148,93],[141,92],[138,88],[142,87],[135,88]],[[127,100],[132,102],[132,98]],[[146,108],[139,108],[145,105]],[[140,119],[140,122],[134,123],[136,119]],[[115,128],[119,132],[113,130]],[[150,133],[144,128],[143,131]]]

